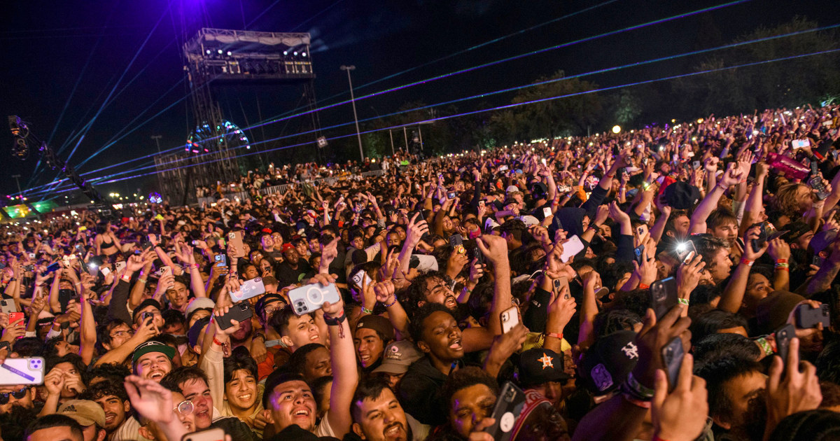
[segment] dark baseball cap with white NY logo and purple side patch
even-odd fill
[[[597,396],[621,386],[638,361],[635,340],[633,331],[617,331],[597,339],[577,368],[584,386]]]

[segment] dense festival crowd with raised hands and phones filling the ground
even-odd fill
[[[838,116],[4,224],[0,437],[838,439]]]

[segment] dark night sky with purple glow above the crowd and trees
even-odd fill
[[[370,81],[426,64],[488,40],[565,18],[449,60],[436,62],[370,87]],[[359,0],[64,0],[4,2],[0,27],[0,109],[28,121],[41,139],[50,139],[58,155],[84,173],[156,151],[152,135],[160,134],[163,149],[183,144],[194,124],[182,69],[179,41],[200,26],[312,34],[312,62],[319,104],[349,97],[346,74],[339,66],[352,64],[356,95],[361,96],[411,81],[527,53],[575,39],[584,39],[637,24],[691,13],[725,1],[396,1]],[[186,10],[186,20],[181,10]],[[836,0],[785,2],[751,0],[709,13],[675,18],[540,55],[469,71],[398,92],[357,102],[359,118],[395,112],[406,102],[432,104],[459,97],[527,84],[539,76],[564,70],[567,75],[618,66],[633,61],[676,55],[727,43],[759,26],[772,27],[795,15],[820,25],[840,17]],[[156,27],[155,27],[156,26]],[[154,29],[154,31],[152,31]],[[148,39],[148,40],[147,40]],[[144,43],[145,42],[145,43]],[[142,48],[141,48],[142,46]],[[626,84],[691,71],[700,59],[686,58],[585,78],[601,86]],[[180,81],[180,82],[179,82]],[[75,89],[75,91],[74,91]],[[105,97],[111,102],[102,107]],[[218,92],[226,118],[246,127],[263,118],[290,111],[300,103],[299,87],[228,87]],[[338,97],[337,94],[340,94]],[[328,99],[333,97],[332,99]],[[512,94],[459,103],[459,110],[506,104]],[[172,105],[181,99],[181,102]],[[258,109],[257,101],[260,102]],[[168,110],[164,110],[171,106]],[[66,109],[65,109],[66,108]],[[163,111],[163,112],[161,112]],[[63,115],[62,115],[63,113]],[[98,113],[81,143],[77,134]],[[152,118],[156,113],[159,115]],[[61,115],[61,116],[60,116]],[[326,127],[352,121],[349,105],[319,114]],[[136,120],[135,120],[136,119]],[[300,118],[298,118],[300,119]],[[302,122],[270,124],[249,130],[251,139],[294,134]],[[133,120],[135,120],[133,122]],[[124,136],[93,156],[120,133]],[[352,125],[328,130],[328,137],[349,134]],[[15,193],[10,177],[20,174],[21,186],[45,184],[55,177],[38,165],[36,147],[29,160],[9,154],[12,137],[3,128],[0,153],[0,193]],[[340,143],[332,145],[337,147]],[[76,147],[77,145],[77,147]],[[89,160],[88,160],[89,159]],[[85,165],[78,166],[82,160]],[[37,165],[37,167],[36,167]],[[118,171],[111,169],[108,172]],[[97,186],[100,192],[148,190],[143,181]],[[78,192],[76,192],[78,193]]]

